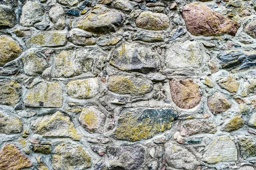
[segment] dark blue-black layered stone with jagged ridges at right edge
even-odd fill
[[[228,50],[218,54],[220,64],[227,71],[239,71],[256,66],[256,51]]]

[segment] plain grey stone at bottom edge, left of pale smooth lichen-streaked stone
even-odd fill
[[[195,156],[185,148],[171,142],[164,144],[166,162],[169,166],[183,169],[194,170],[198,165]]]

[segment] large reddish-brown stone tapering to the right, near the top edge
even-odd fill
[[[218,36],[236,35],[239,24],[213,11],[203,3],[186,4],[182,10],[186,28],[192,35]]]

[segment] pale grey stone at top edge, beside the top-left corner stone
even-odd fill
[[[27,1],[22,7],[22,13],[20,16],[21,26],[34,26],[43,20],[44,10],[39,3]]]

